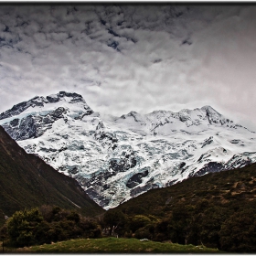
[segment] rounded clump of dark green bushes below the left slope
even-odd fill
[[[101,237],[101,229],[95,220],[82,217],[73,210],[50,206],[16,211],[1,231],[9,244],[16,247]]]

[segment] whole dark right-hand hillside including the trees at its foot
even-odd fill
[[[107,211],[126,238],[256,251],[256,164],[157,188]]]

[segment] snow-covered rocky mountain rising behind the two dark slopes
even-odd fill
[[[0,125],[106,209],[190,176],[256,162],[256,133],[210,106],[114,117],[60,91],[15,105],[0,114]]]

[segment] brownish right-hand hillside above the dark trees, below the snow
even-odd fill
[[[224,208],[229,208],[231,204],[241,208],[246,208],[249,202],[256,204],[256,163],[225,172],[194,176],[171,187],[155,188],[110,211],[122,210],[128,215],[153,214],[164,218],[176,205],[197,205],[202,199]]]

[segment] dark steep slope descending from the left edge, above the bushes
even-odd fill
[[[76,208],[87,215],[103,212],[77,181],[59,174],[37,156],[28,155],[1,126],[0,155],[1,216],[43,204]]]

